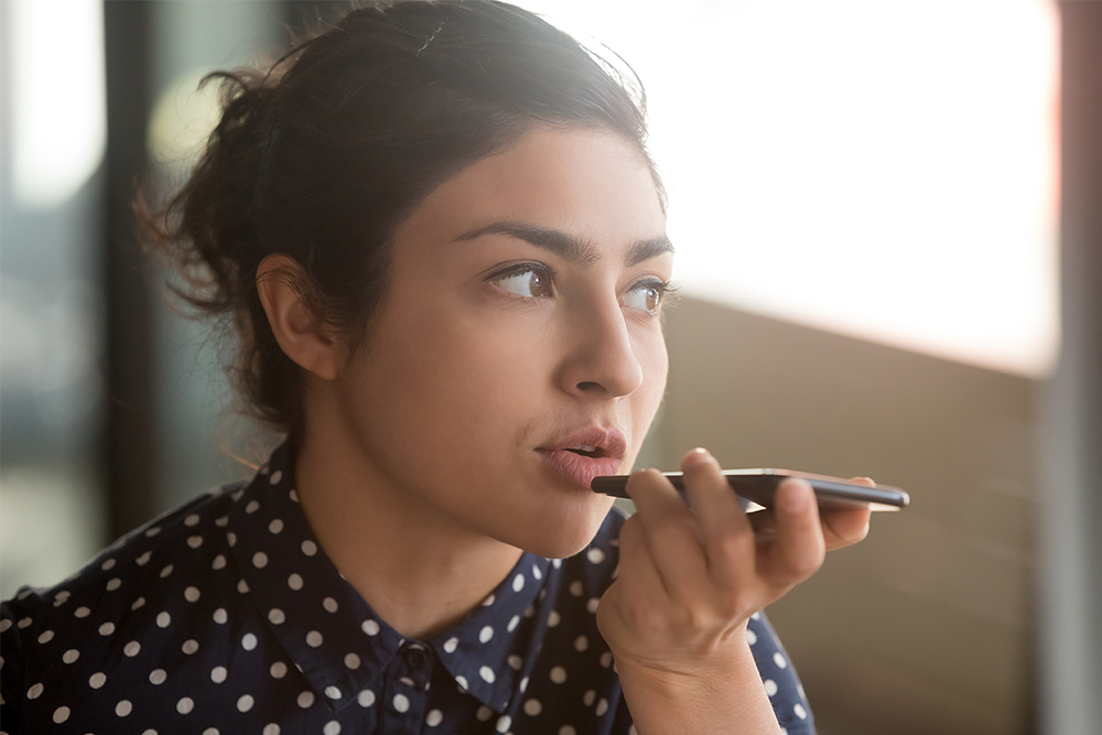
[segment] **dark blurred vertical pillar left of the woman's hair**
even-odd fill
[[[145,171],[150,109],[148,0],[105,0],[107,153],[104,288],[107,425],[104,468],[112,537],[152,515],[156,477],[152,310],[131,213]]]

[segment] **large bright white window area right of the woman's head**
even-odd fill
[[[646,83],[687,293],[1050,369],[1052,0],[521,4],[606,43]]]

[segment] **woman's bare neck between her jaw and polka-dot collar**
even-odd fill
[[[387,482],[341,436],[314,432],[300,443],[295,483],[325,553],[407,638],[461,620],[520,559],[520,549],[457,527]]]

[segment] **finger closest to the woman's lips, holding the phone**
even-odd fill
[[[657,469],[633,473],[627,491],[635,501],[644,541],[671,596],[700,583],[705,560],[696,520],[673,485]]]

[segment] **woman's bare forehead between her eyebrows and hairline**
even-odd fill
[[[568,233],[598,248],[666,233],[650,165],[633,143],[606,130],[539,127],[441,184],[398,240],[451,241],[501,221]]]

